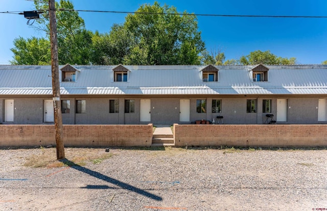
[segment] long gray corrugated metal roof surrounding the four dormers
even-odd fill
[[[124,66],[130,70],[127,82],[113,81],[116,66],[73,67],[79,70],[76,82],[60,82],[61,94],[327,94],[327,65],[268,65],[267,82],[252,81],[255,66],[215,66],[217,82],[202,81],[206,66]],[[0,66],[0,95],[51,94],[51,66]]]

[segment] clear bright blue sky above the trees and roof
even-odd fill
[[[149,0],[72,0],[77,10],[133,12]],[[160,5],[196,14],[327,16],[326,0],[166,0]],[[33,2],[1,0],[0,12],[29,11]],[[126,14],[80,12],[88,30],[109,32],[112,24],[125,22]],[[13,40],[18,36],[44,36],[29,27],[22,15],[0,13],[0,65],[12,60]],[[208,51],[220,49],[226,59],[251,51],[270,50],[281,57],[296,57],[298,64],[321,64],[327,60],[327,18],[198,17],[199,31]]]

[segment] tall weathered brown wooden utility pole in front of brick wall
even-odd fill
[[[51,41],[51,70],[52,70],[52,93],[54,105],[54,118],[56,129],[57,159],[65,158],[63,144],[63,127],[61,117],[58,40],[55,0],[49,0],[50,41]]]

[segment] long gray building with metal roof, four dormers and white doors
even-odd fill
[[[53,124],[51,66],[0,66],[0,123]],[[63,124],[327,124],[327,65],[60,66]]]

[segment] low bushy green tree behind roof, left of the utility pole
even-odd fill
[[[18,37],[14,39],[14,48],[10,49],[13,53],[12,65],[50,65],[51,49],[50,41],[44,38]]]

